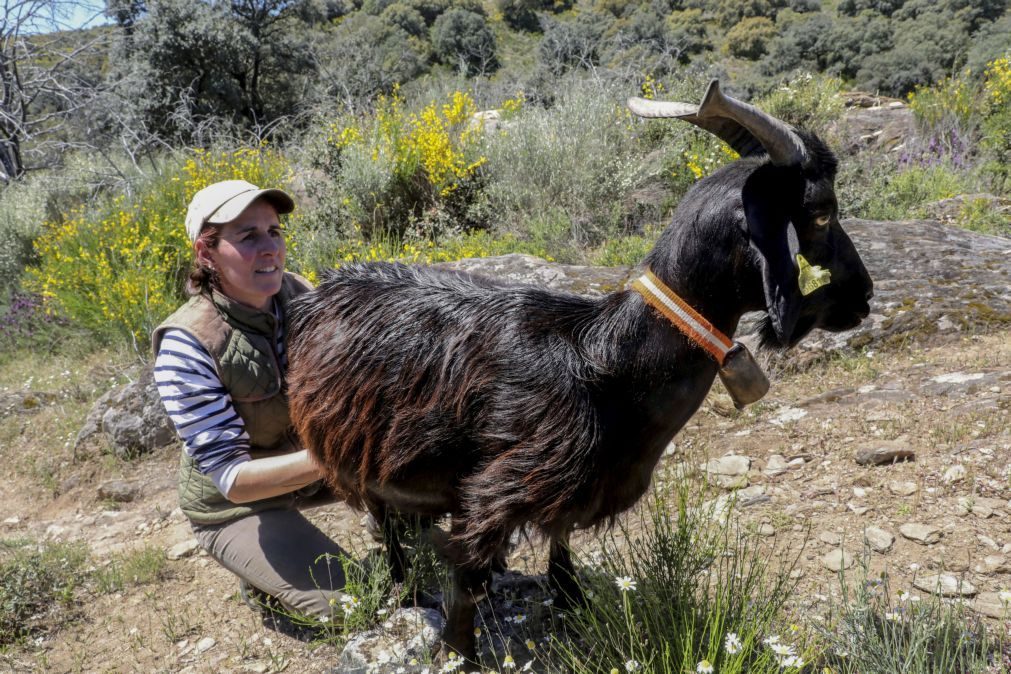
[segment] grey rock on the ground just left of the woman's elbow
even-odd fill
[[[176,439],[150,367],[144,369],[136,381],[98,399],[77,435],[77,445],[99,434],[121,458],[146,454]]]

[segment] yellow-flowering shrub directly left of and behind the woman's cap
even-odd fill
[[[28,270],[28,288],[50,310],[97,335],[146,348],[151,330],[183,299],[189,200],[206,185],[234,178],[283,186],[290,171],[266,148],[194,151],[180,168],[133,197],[82,205],[61,221],[45,223],[35,242],[38,263]]]

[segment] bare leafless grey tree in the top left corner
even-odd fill
[[[7,0],[0,13],[0,183],[59,162],[97,86],[101,33],[59,30],[72,2]]]

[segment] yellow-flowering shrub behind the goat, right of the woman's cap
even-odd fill
[[[398,90],[375,115],[331,124],[324,169],[336,179],[344,224],[377,232],[466,229],[479,196],[481,124],[469,94],[409,113]]]

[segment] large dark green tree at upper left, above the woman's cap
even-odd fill
[[[144,9],[121,33],[114,80],[152,128],[183,141],[204,119],[252,128],[296,113],[314,81],[310,28],[330,11],[306,0],[148,0]]]

